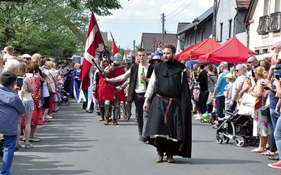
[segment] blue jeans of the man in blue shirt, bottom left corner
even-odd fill
[[[13,153],[15,151],[15,141],[17,141],[17,135],[7,136],[4,135],[4,154],[3,165],[1,168],[1,175],[10,175],[10,169],[13,162]]]

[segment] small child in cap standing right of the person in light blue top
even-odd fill
[[[226,87],[224,87],[224,97],[226,97],[226,103],[225,103],[225,111],[228,109],[232,109],[231,106],[229,106],[231,102],[231,92],[233,89],[233,73],[226,73],[226,82],[228,83]],[[226,116],[223,119],[229,118],[229,116],[226,114]]]

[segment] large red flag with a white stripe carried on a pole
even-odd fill
[[[105,48],[103,37],[98,29],[98,23],[96,18],[91,12],[91,18],[89,23],[89,29],[87,34],[84,60],[79,78],[81,79],[81,89],[84,90],[90,86],[90,68],[93,63],[93,59],[96,56],[96,51],[100,52]]]

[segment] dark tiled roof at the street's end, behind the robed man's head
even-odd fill
[[[143,33],[141,37],[141,47],[150,54],[157,50],[159,43],[162,41],[162,34]],[[176,46],[176,34],[163,34],[163,45],[171,43]]]

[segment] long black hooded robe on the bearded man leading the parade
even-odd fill
[[[155,92],[163,97],[177,98],[169,108],[167,123],[164,113],[169,100],[155,96],[150,105],[145,137],[157,147],[156,137],[174,140],[172,155],[191,158],[191,97],[185,66],[178,62],[162,62],[155,65]],[[176,139],[176,140],[175,140]]]

